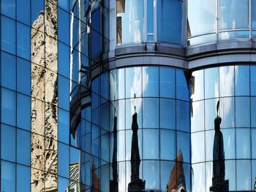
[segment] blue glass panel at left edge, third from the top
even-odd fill
[[[16,90],[15,57],[4,52],[1,52],[1,85]]]

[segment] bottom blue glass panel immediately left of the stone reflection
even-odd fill
[[[30,192],[30,167],[17,164],[16,192]]]

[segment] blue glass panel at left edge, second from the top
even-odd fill
[[[16,30],[15,20],[1,16],[1,49],[16,53]]]

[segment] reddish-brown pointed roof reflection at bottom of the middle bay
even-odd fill
[[[176,163],[170,172],[170,178],[169,182],[166,184],[165,192],[187,192],[186,180],[183,169],[183,155],[181,151],[176,155],[175,161]]]

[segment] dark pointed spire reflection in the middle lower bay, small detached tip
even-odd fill
[[[136,108],[135,108],[136,109]],[[140,152],[138,146],[138,123],[137,112],[132,115],[132,151],[131,151],[131,166],[132,176],[131,182],[128,185],[128,191],[143,191],[145,189],[145,181],[140,180]]]

